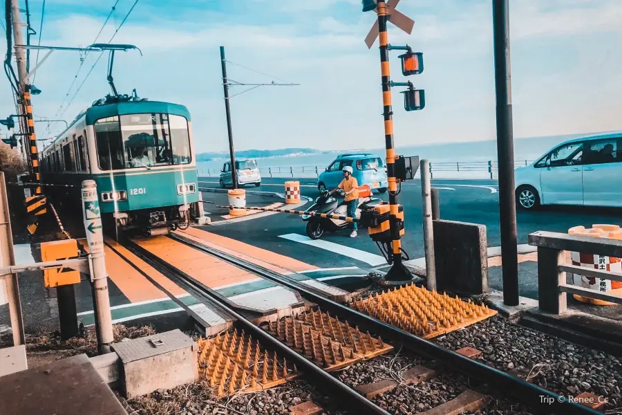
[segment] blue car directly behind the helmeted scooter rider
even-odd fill
[[[320,192],[334,189],[343,180],[343,167],[352,167],[352,176],[357,179],[359,185],[369,185],[373,190],[380,193],[386,192],[388,181],[386,179],[386,167],[381,157],[370,153],[340,154],[326,167],[317,178],[317,188]]]

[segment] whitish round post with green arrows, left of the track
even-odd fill
[[[104,233],[100,201],[93,180],[82,182],[82,214],[91,257],[91,286],[95,306],[97,351],[100,354],[110,353],[114,336],[108,293],[108,273],[106,273],[106,263],[104,262]]]

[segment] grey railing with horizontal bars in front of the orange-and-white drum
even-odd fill
[[[622,295],[567,284],[566,273],[618,282],[622,282],[622,274],[564,263],[566,250],[620,258],[622,241],[540,231],[529,234],[529,245],[538,247],[538,302],[541,311],[552,314],[565,313],[566,294],[622,304]]]

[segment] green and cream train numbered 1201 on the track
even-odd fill
[[[98,100],[40,156],[53,203],[81,209],[82,181],[95,181],[107,230],[185,228],[198,203],[190,113],[182,105],[135,96]]]

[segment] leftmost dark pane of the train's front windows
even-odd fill
[[[123,143],[119,117],[102,118],[95,121],[95,141],[97,143],[97,161],[102,170],[123,169]]]

